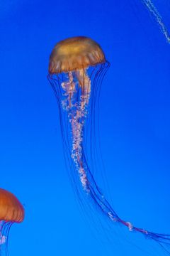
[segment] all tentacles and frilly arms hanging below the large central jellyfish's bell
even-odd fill
[[[103,65],[102,67],[103,74],[106,72],[107,68],[108,65],[106,63],[106,65]],[[101,73],[101,70],[99,69],[96,72]],[[99,76],[96,75],[95,79],[98,78]],[[88,117],[89,114],[91,90],[94,90],[92,86],[95,84],[95,82],[91,84],[91,75],[88,75],[86,69],[81,69],[67,73],[65,79],[63,77],[60,78],[59,76],[56,79],[53,78],[52,75],[48,75],[48,79],[55,91],[59,106],[62,106],[60,108],[60,120],[62,121],[62,124],[65,122],[62,127],[62,132],[64,132],[64,127],[67,127],[67,133],[71,134],[71,139],[69,139],[69,134],[67,134],[67,137],[63,137],[64,142],[66,142],[69,149],[67,153],[72,159],[72,161],[69,159],[69,166],[73,167],[74,171],[77,172],[77,176],[79,177],[81,186],[85,193],[95,203],[95,206],[100,210],[100,212],[107,216],[109,220],[115,223],[120,223],[130,231],[141,233],[145,238],[150,238],[155,242],[158,242],[158,244],[169,253],[169,250],[166,250],[166,246],[170,245],[170,235],[152,233],[143,228],[137,228],[129,221],[125,221],[120,218],[96,184],[94,174],[92,174],[89,168],[88,161],[86,160],[86,154],[84,152],[84,127],[86,117]],[[98,84],[98,82],[96,82],[96,84]],[[65,119],[62,119],[61,111],[64,111],[67,115],[67,122]],[[72,181],[75,185],[75,175],[71,174],[70,176],[72,176]],[[78,191],[78,186],[76,189]]]

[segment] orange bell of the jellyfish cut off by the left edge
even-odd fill
[[[24,218],[24,208],[13,193],[0,188],[0,220],[11,223],[21,223]]]

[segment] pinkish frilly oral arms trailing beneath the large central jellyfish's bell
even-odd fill
[[[169,245],[170,238],[167,235],[159,235],[142,228],[136,228],[129,221],[121,219],[103,196],[103,193],[101,193],[94,180],[94,176],[91,174],[83,151],[84,122],[86,121],[87,114],[89,114],[88,105],[91,96],[91,81],[86,73],[86,69],[77,70],[74,74],[69,73],[68,80],[62,82],[62,89],[64,90],[63,96],[65,97],[64,100],[62,100],[62,107],[67,111],[72,131],[71,157],[77,168],[81,186],[84,191],[91,196],[96,206],[98,206],[101,212],[107,215],[111,221],[124,225],[130,231],[142,233],[145,237],[151,238],[161,244]],[[80,95],[77,101],[77,90],[79,89]]]

